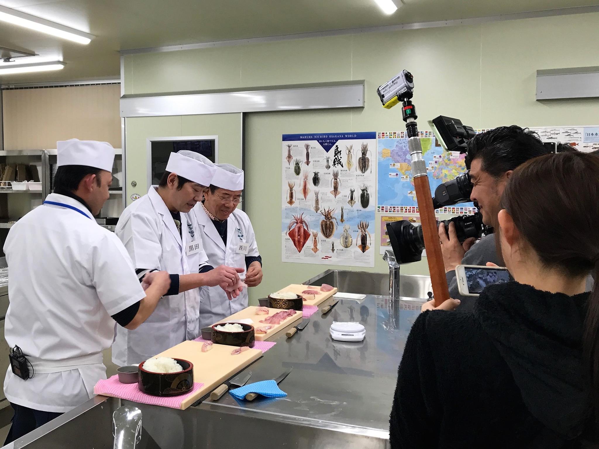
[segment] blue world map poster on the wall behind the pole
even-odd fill
[[[379,132],[377,135],[378,184],[377,211],[382,213],[417,214],[416,190],[410,164],[407,134]],[[432,131],[420,131],[422,155],[426,162],[431,193],[441,183],[452,180],[466,171],[465,154],[444,151]],[[445,207],[438,214],[473,214],[471,202]]]

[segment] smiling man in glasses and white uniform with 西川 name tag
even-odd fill
[[[193,211],[198,220],[204,251],[211,265],[242,266],[240,278],[248,287],[262,281],[262,257],[247,214],[237,209],[243,193],[243,170],[217,164],[204,202]],[[215,287],[200,289],[199,325],[207,327],[247,307],[247,289],[229,299]]]

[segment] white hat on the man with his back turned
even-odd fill
[[[112,171],[114,148],[108,142],[69,139],[56,142],[56,160],[59,167],[85,165]]]

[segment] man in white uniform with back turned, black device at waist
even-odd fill
[[[4,244],[5,338],[29,371],[8,367],[4,394],[15,414],[7,443],[92,398],[106,378],[102,351],[115,320],[135,329],[170,286],[168,273],[155,272],[144,292],[122,242],[93,218],[108,199],[113,147],[71,139],[57,148],[54,193],[11,227]]]

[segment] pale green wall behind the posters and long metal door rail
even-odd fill
[[[426,129],[426,120],[439,114],[458,117],[474,128],[512,123],[597,125],[597,99],[535,100],[537,69],[599,65],[597,42],[599,14],[594,13],[135,54],[125,57],[125,92],[366,81],[363,109],[246,114],[246,210],[256,228],[265,271],[264,283],[253,289],[252,298],[257,298],[323,269],[280,262],[282,134],[404,129],[400,111],[384,110],[376,96],[376,87],[404,68],[415,75],[414,101],[420,129]],[[208,124],[210,119],[202,117]],[[159,135],[163,123],[174,129],[177,120],[183,118],[127,120],[126,151],[131,172],[137,170],[131,163],[142,157],[140,151],[145,154],[147,133]],[[238,120],[211,125],[213,128],[195,134],[219,134],[223,138],[240,132]],[[223,145],[219,150],[225,157],[228,150]],[[231,151],[238,158],[238,147],[232,145]],[[143,160],[145,163],[145,156]],[[132,179],[129,172],[128,179]],[[379,226],[377,223],[375,229]],[[378,253],[378,246],[374,249]],[[379,255],[375,269],[386,270]],[[427,271],[423,262],[402,269],[406,273]]]

